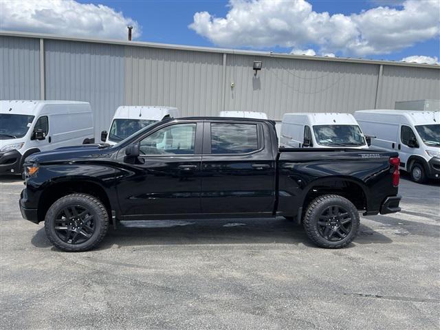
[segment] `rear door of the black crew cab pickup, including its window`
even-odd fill
[[[263,122],[206,120],[201,212],[272,214],[276,172],[271,145]]]

